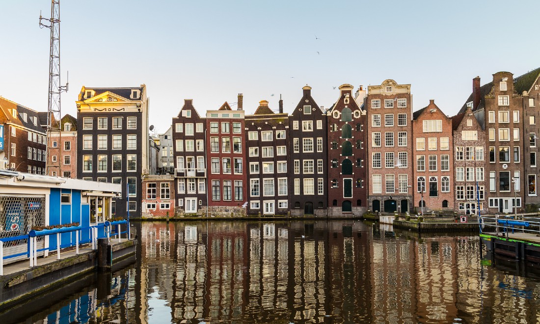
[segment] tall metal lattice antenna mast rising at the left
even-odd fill
[[[49,24],[44,24],[43,21]],[[45,162],[46,174],[63,176],[60,162],[61,126],[60,119],[60,93],[68,91],[68,84],[60,85],[60,0],[51,1],[51,18],[43,18],[39,14],[39,28],[51,30],[51,45],[49,51],[49,104],[47,107],[47,160]],[[53,146],[56,141],[56,146]],[[56,156],[56,160],[52,160]]]

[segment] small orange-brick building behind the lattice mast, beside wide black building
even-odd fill
[[[46,118],[46,114],[45,114]],[[50,176],[77,179],[77,118],[65,114],[60,119],[60,132],[51,133],[52,147],[58,147],[49,154],[49,163],[60,161],[60,174],[58,168],[50,170]],[[60,135],[58,137],[58,135]],[[58,155],[59,154],[59,155]]]

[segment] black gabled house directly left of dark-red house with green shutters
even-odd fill
[[[324,107],[311,96],[311,86],[306,85],[302,92],[289,116],[289,208],[295,216],[324,216],[328,207],[328,118]]]

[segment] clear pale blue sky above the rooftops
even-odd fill
[[[0,1],[0,96],[46,111],[49,0]],[[473,78],[540,66],[540,1],[79,1],[60,2],[62,115],[82,88],[146,84],[154,133],[193,99],[199,114],[260,100],[291,113],[308,84],[330,107],[341,84],[411,84],[453,116]],[[334,89],[335,87],[335,89]],[[233,105],[235,109],[235,105]]]

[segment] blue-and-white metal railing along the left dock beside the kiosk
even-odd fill
[[[126,225],[126,230],[121,231],[120,225]],[[98,233],[99,230],[103,228],[103,233],[106,235],[99,236]],[[112,232],[112,229],[114,228],[114,232]],[[75,232],[75,242],[73,242],[70,239],[70,242],[68,244],[62,244],[62,240],[60,240],[60,234],[62,233],[72,233]],[[88,239],[80,239],[82,237],[83,233],[87,233]],[[45,252],[45,251],[52,251],[52,249],[56,249],[56,258],[57,260],[60,260],[60,250],[65,248],[70,248],[75,246],[75,254],[79,254],[79,246],[82,244],[90,244],[92,246],[92,250],[97,249],[97,240],[98,239],[111,239],[111,237],[117,237],[118,241],[122,241],[122,234],[125,234],[126,238],[130,238],[130,224],[127,220],[120,220],[120,221],[105,221],[102,224],[92,225],[92,226],[71,226],[71,227],[62,227],[62,228],[55,228],[53,230],[43,230],[43,231],[30,231],[28,234],[24,235],[18,235],[16,237],[9,237],[9,238],[0,238],[0,275],[4,274],[4,260],[11,259],[15,257],[22,257],[26,256],[26,258],[29,258],[30,260],[30,267],[37,266],[37,254],[38,252]],[[56,235],[56,246],[49,244],[48,247],[38,248],[37,246],[37,240],[41,237],[49,237],[50,235]],[[21,253],[15,253],[10,255],[4,255],[4,244],[6,242],[12,242],[12,241],[18,241],[18,240],[27,240],[26,244],[26,251]],[[51,242],[51,240],[49,240]]]

